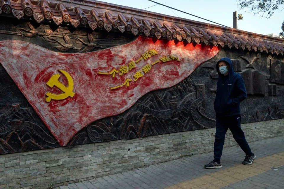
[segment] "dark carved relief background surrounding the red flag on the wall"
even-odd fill
[[[0,21],[0,40],[23,40],[57,52],[90,52],[134,38],[127,33]],[[283,57],[221,49],[179,84],[149,92],[124,113],[91,123],[67,146],[215,127],[215,64],[222,57],[233,59],[235,71],[246,83],[242,123],[284,118]],[[0,89],[0,154],[60,147],[1,64]]]

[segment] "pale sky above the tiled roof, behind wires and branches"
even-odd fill
[[[123,6],[134,7],[137,9],[145,9],[149,6],[155,5],[155,3],[148,0],[101,0],[108,3],[119,4]],[[260,15],[254,16],[249,9],[239,10],[236,0],[153,0],[167,6],[171,6],[175,9],[194,14],[196,16],[212,20],[222,25],[233,27],[233,12],[237,11],[238,14],[243,15],[243,20],[238,21],[238,29],[258,34],[279,34],[281,31],[281,23],[284,20],[284,10],[280,12],[284,7],[280,7],[275,11],[272,17],[269,19],[260,17]],[[156,5],[146,9],[152,12],[158,12],[161,14],[167,14],[171,16],[179,16],[181,18],[207,22],[205,20],[193,17],[182,12],[170,10],[167,7]],[[210,23],[210,22],[207,22]]]

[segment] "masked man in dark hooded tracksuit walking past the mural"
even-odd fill
[[[207,169],[222,168],[220,159],[228,128],[230,128],[235,141],[246,153],[243,164],[250,165],[256,156],[251,152],[241,129],[240,102],[246,99],[246,87],[243,78],[240,74],[234,72],[230,58],[221,58],[217,62],[216,68],[219,79],[214,101],[214,110],[216,112],[214,160],[204,167]]]

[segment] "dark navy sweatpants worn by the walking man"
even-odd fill
[[[214,143],[215,162],[220,162],[225,142],[225,134],[228,128],[230,128],[235,141],[246,153],[246,155],[252,155],[249,144],[247,143],[243,130],[241,129],[241,115],[234,115],[229,117],[216,116],[216,134]]]

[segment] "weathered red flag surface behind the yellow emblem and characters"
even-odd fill
[[[136,64],[127,74],[115,78],[98,72],[119,71],[131,61],[138,60],[143,53],[155,49],[159,54]],[[49,128],[61,146],[91,122],[120,114],[131,107],[140,97],[156,89],[171,87],[188,77],[201,63],[215,56],[219,49],[205,45],[175,43],[167,40],[152,40],[138,37],[132,43],[118,47],[82,54],[57,53],[38,45],[23,41],[0,42],[0,62],[28,99],[35,111]],[[179,61],[156,63],[143,77],[134,82],[133,75],[159,60],[161,56],[175,56]],[[74,81],[73,98],[47,103],[46,93],[62,93],[52,89],[46,82],[54,74],[70,74]],[[129,87],[110,90],[132,79]]]

